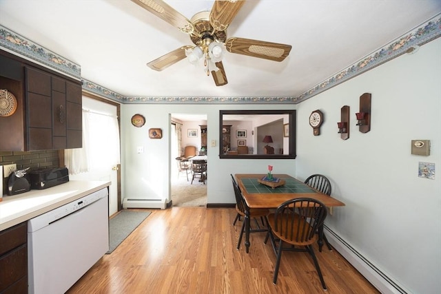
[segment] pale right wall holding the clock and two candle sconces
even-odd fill
[[[359,97],[372,94],[371,131],[358,132]],[[351,107],[350,138],[337,134]],[[325,123],[313,136],[309,114]],[[334,209],[326,224],[409,293],[441,289],[441,39],[422,45],[298,105],[296,175],[328,176]],[[431,155],[411,155],[411,140],[431,140]],[[435,180],[418,162],[435,163]]]

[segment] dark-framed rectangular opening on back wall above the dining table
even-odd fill
[[[296,110],[220,110],[219,158],[296,158]]]

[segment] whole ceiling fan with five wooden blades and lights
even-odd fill
[[[237,37],[227,39],[228,25],[236,17],[245,0],[216,0],[211,12],[198,12],[191,20],[162,0],[132,1],[167,23],[174,25],[181,32],[189,34],[194,43],[194,45],[183,45],[147,63],[147,66],[153,70],[164,70],[185,57],[192,64],[203,59],[207,76],[209,76],[209,72],[212,72],[216,86],[222,86],[228,83],[222,63],[225,50],[271,61],[283,61],[291,51],[291,45]]]

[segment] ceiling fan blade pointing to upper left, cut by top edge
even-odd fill
[[[185,32],[187,34],[192,34],[194,31],[194,26],[191,21],[184,17],[181,13],[177,12],[162,0],[132,0],[134,3],[138,4],[142,8],[152,12],[156,17],[167,21],[174,27]]]

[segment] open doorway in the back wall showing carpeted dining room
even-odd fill
[[[201,152],[201,125],[207,125],[206,114],[170,114],[170,199],[174,207],[206,207],[208,180],[192,183],[192,172],[188,174],[180,167],[176,158],[184,154],[185,146],[196,147],[196,156]],[[205,128],[206,129],[206,128]],[[190,165],[191,160],[187,162]],[[187,180],[188,176],[188,180]]]

